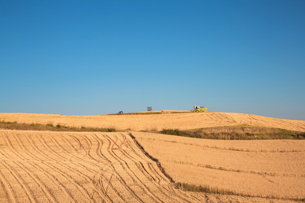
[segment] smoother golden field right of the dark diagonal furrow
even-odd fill
[[[235,194],[305,198],[305,140],[207,140],[132,132],[175,182]]]

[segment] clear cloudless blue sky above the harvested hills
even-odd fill
[[[0,112],[305,120],[305,1],[0,1]]]

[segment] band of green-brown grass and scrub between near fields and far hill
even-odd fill
[[[76,132],[115,132],[124,131],[115,128],[98,127],[70,127],[52,123],[17,123],[16,121],[0,121],[0,129],[14,130],[46,130],[46,131],[76,131]],[[129,130],[129,129],[126,129]],[[125,131],[126,131],[125,130]],[[170,134],[173,136],[201,138],[212,140],[304,140],[305,132],[250,125],[206,127],[192,130],[163,129],[161,131],[147,131],[153,133]]]

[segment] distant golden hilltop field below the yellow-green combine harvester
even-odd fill
[[[165,113],[144,115],[62,116],[58,114],[0,113],[0,120],[18,123],[42,123],[74,127],[106,127],[121,130],[180,130],[203,127],[253,125],[305,131],[305,121],[269,118],[240,113]]]

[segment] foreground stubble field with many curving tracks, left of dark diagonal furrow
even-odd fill
[[[0,130],[0,202],[232,201],[284,202],[176,189],[128,133]]]

